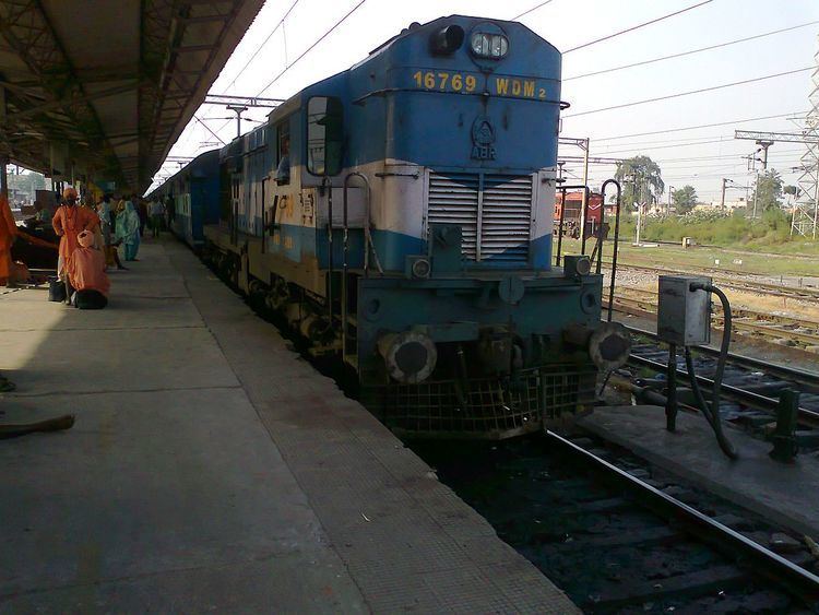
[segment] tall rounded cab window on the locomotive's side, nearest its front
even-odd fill
[[[313,96],[307,103],[307,170],[337,175],[342,168],[344,134],[342,104],[332,96]]]

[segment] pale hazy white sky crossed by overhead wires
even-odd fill
[[[268,0],[211,93],[287,98],[352,67],[414,21],[425,23],[447,14],[512,20],[543,3],[543,0],[364,0],[341,25],[298,59],[360,1]],[[708,202],[719,199],[723,177],[732,179],[735,186],[752,185],[753,173],[748,172],[744,156],[757,146],[752,141],[735,140],[734,129],[795,131],[796,125],[787,116],[804,117],[809,108],[811,71],[620,109],[584,111],[815,67],[819,23],[680,58],[570,79],[819,22],[816,0],[711,0],[679,15],[571,50],[700,2],[550,0],[518,21],[563,52],[561,97],[571,107],[563,111],[561,137],[590,138],[592,156],[649,155],[660,164],[666,185],[677,188],[691,185],[700,201]],[[268,111],[250,109],[245,117],[264,120]],[[573,114],[580,115],[572,117]],[[228,116],[224,107],[203,105],[195,115],[221,140],[229,142],[235,137],[235,120],[221,119]],[[768,116],[783,117],[636,135]],[[253,126],[256,122],[245,121],[242,131]],[[613,139],[622,135],[628,137]],[[191,120],[169,156],[192,157],[219,145],[209,130]],[[769,150],[769,168],[778,169],[786,184],[795,184],[799,173],[792,168],[799,164],[804,151],[804,145],[776,143]],[[581,152],[569,145],[561,146],[560,154],[571,156]],[[170,175],[177,168],[177,163],[166,163],[159,176]],[[579,164],[567,164],[565,168],[569,178],[582,174]],[[592,165],[592,187],[598,187],[614,170],[610,164]],[[727,199],[745,193],[744,189],[729,190]]]

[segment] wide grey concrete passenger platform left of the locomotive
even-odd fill
[[[0,294],[0,611],[577,608],[180,244],[80,311]]]

